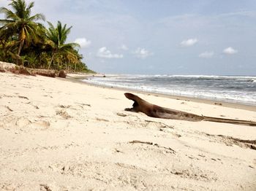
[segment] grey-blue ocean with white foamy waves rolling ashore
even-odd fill
[[[204,75],[110,75],[84,79],[94,85],[183,95],[256,106],[256,77]]]

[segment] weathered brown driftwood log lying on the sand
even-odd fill
[[[127,108],[125,111],[129,112],[143,112],[149,117],[157,117],[164,119],[172,119],[172,120],[187,120],[187,121],[211,121],[211,122],[226,122],[237,125],[249,125],[256,126],[256,122],[246,121],[246,120],[232,120],[218,117],[207,117],[200,116],[197,114],[191,114],[187,112],[181,112],[175,109],[168,109],[165,107],[157,106],[154,104],[150,104],[142,98],[134,95],[132,93],[124,93],[124,95],[129,99],[134,101],[132,108]]]

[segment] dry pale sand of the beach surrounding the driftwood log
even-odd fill
[[[124,90],[0,73],[0,190],[256,190],[256,128],[124,112]],[[138,94],[256,121],[256,112]]]

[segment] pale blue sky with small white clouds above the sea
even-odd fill
[[[72,26],[68,42],[79,43],[83,61],[100,73],[256,76],[255,0],[34,3],[32,14]]]

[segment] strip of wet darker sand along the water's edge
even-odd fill
[[[143,91],[143,90],[132,90],[129,88],[125,87],[110,87],[110,86],[105,86],[105,85],[96,85],[90,82],[85,82],[82,81],[83,79],[89,78],[89,77],[103,77],[105,74],[67,74],[68,80],[72,82],[78,82],[86,85],[91,85],[95,87],[102,87],[102,88],[108,88],[112,90],[127,90],[131,93],[141,93],[144,95],[154,95],[154,96],[160,96],[163,98],[171,98],[171,99],[176,99],[176,100],[182,100],[182,101],[193,101],[196,103],[203,103],[203,104],[211,104],[211,105],[220,105],[220,106],[227,106],[233,109],[246,109],[248,111],[256,112],[256,106],[254,105],[247,105],[247,104],[242,104],[242,103],[236,103],[236,102],[228,102],[228,101],[219,101],[219,100],[214,100],[214,99],[207,99],[207,98],[193,98],[193,97],[188,97],[185,95],[167,95],[164,93],[152,93],[148,91]]]

